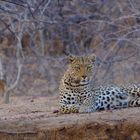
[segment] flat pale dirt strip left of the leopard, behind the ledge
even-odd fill
[[[34,113],[52,113],[58,109],[58,97],[13,96],[9,104],[0,101],[0,118],[10,119]]]

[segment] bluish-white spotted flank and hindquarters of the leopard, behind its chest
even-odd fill
[[[108,85],[92,89],[92,96],[86,98],[79,112],[95,112],[128,107],[140,107],[140,85]]]

